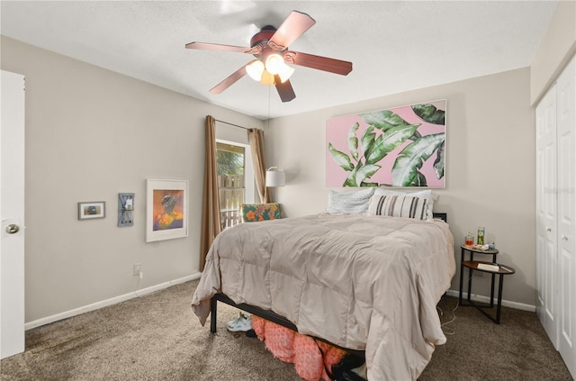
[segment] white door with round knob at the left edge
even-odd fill
[[[24,77],[0,77],[0,358],[24,350]]]

